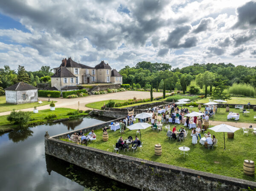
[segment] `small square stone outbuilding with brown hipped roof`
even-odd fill
[[[38,88],[18,82],[5,89],[6,103],[22,104],[38,102]]]

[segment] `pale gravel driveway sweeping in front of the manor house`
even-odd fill
[[[57,101],[55,103],[55,108],[71,108],[71,109],[78,109],[78,102],[80,103],[79,109],[81,110],[87,110],[91,108],[85,107],[85,104],[92,103],[92,102],[98,102],[98,101],[104,101],[104,100],[129,100],[133,99],[134,96],[137,99],[147,99],[150,98],[150,92],[145,91],[120,91],[116,93],[110,93],[110,94],[101,94],[101,95],[92,95],[87,97],[79,97],[74,99],[66,99],[66,98],[51,98],[51,101]],[[162,92],[153,92],[154,97],[160,97],[163,96]],[[48,100],[46,97],[38,97],[38,100]],[[49,109],[49,105],[44,106],[38,106],[37,109],[43,110],[43,109]],[[34,108],[26,108],[22,109],[22,111],[33,111]],[[19,110],[17,110],[19,111]],[[2,115],[9,115],[11,111],[1,112],[0,116]]]

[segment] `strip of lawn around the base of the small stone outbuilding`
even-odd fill
[[[12,103],[6,103],[6,98],[5,96],[0,96],[0,112],[5,112],[5,111],[12,111],[12,109],[26,109],[26,108],[33,108],[34,106],[42,106],[42,105],[48,105],[51,102],[48,101],[43,101],[43,103],[24,103],[24,104],[19,104],[19,105],[15,105]]]

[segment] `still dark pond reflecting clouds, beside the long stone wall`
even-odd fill
[[[85,117],[0,134],[0,191],[136,191],[44,154],[45,131],[53,136],[108,120]]]

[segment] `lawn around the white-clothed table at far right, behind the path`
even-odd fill
[[[188,107],[189,108],[189,107]],[[192,108],[193,111],[198,111],[198,107]],[[220,109],[220,111],[219,111]],[[254,116],[256,115],[256,111],[253,111],[253,109],[247,110],[250,111],[247,115],[244,115],[240,109],[230,108],[230,111],[234,113],[239,113],[239,120],[235,121],[234,119],[228,120],[227,115],[228,112],[226,112],[226,108],[219,108],[218,112],[215,113],[215,117],[210,117],[209,120],[215,120],[215,121],[229,121],[229,122],[239,122],[239,123],[256,123],[256,120],[254,120]],[[189,108],[189,111],[191,111],[191,108]],[[203,111],[203,109],[201,109]]]

